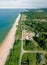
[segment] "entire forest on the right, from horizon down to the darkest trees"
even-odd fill
[[[30,9],[22,14],[26,16],[26,20],[22,21],[24,26],[28,26],[26,30],[39,34],[38,37],[36,34],[34,40],[38,42],[40,47],[47,50],[47,9]]]

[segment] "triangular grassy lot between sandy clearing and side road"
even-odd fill
[[[28,43],[28,45],[26,45],[26,40],[23,41],[23,48],[24,50],[43,50],[36,41],[34,40],[30,40],[30,42]]]

